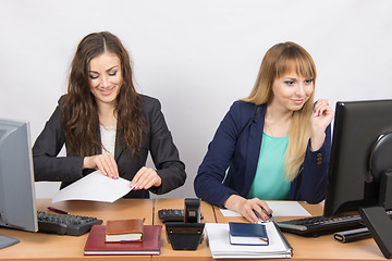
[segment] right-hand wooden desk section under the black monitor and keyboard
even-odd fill
[[[323,204],[308,204],[299,202],[311,215],[321,215]],[[244,217],[223,216],[218,207],[213,207],[217,222],[228,223],[229,221],[247,222]],[[275,216],[275,221],[298,219]],[[355,243],[341,244],[333,240],[332,235],[320,237],[302,237],[284,233],[293,247],[293,260],[385,260],[372,238]]]

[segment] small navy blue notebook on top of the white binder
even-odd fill
[[[267,246],[268,236],[264,224],[229,222],[230,244]]]

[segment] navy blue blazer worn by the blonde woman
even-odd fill
[[[204,158],[194,188],[203,200],[223,207],[231,195],[247,197],[256,175],[266,105],[235,101],[220,123]],[[318,151],[309,144],[302,170],[291,183],[290,200],[318,203],[323,200],[331,150],[331,126]],[[229,169],[229,170],[228,170]]]

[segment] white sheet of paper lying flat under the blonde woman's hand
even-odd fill
[[[311,216],[297,201],[266,201],[273,216]],[[241,216],[235,211],[220,209],[223,216]]]

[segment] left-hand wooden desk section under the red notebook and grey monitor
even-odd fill
[[[49,199],[37,199],[37,210],[47,211],[48,206],[72,214],[95,216],[103,220],[143,219],[152,224],[154,201],[149,199],[120,199],[114,203],[90,201],[64,201],[51,203]],[[0,228],[0,234],[21,243],[0,250],[0,260],[151,260],[151,256],[94,256],[85,257],[83,249],[88,234],[79,237]]]

